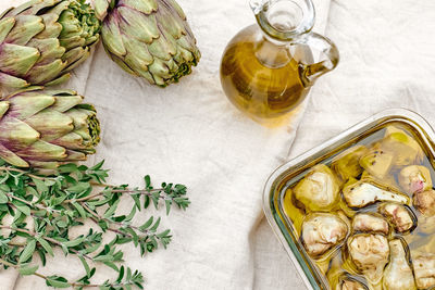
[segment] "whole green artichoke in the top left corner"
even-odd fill
[[[101,23],[85,0],[33,0],[0,16],[0,88],[57,85],[90,54]]]

